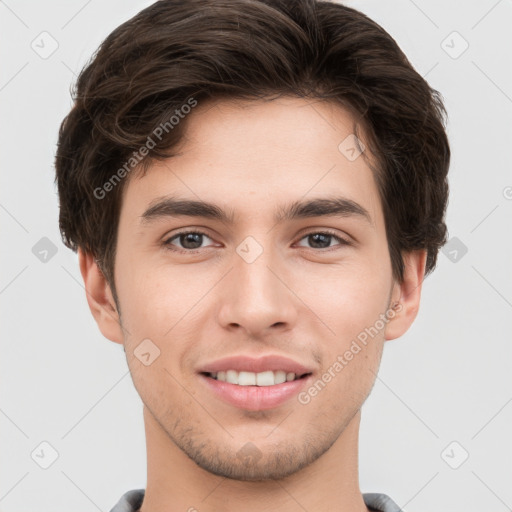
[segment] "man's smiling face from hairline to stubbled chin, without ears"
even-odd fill
[[[381,202],[357,148],[338,148],[353,133],[340,106],[224,100],[187,122],[179,156],[124,191],[128,364],[147,411],[200,467],[282,478],[337,441],[374,383],[398,298]]]

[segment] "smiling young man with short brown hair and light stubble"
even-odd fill
[[[399,511],[361,406],[446,240],[439,93],[362,13],[160,0],[82,71],[60,228],[144,403],[113,512]]]

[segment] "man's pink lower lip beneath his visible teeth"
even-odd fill
[[[199,376],[221,400],[248,411],[264,411],[279,407],[297,395],[311,378],[310,374],[302,379],[273,386],[238,386],[204,374]]]

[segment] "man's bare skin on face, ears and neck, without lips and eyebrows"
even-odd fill
[[[341,106],[222,100],[199,104],[187,123],[179,156],[130,176],[124,190],[115,260],[120,311],[94,258],[79,252],[91,312],[106,338],[124,344],[144,402],[141,511],[366,512],[360,409],[384,342],[417,315],[426,253],[404,254],[404,280],[393,279],[372,171],[363,157],[351,162],[338,150],[353,132]],[[280,206],[333,193],[363,206],[371,222],[273,222]],[[169,194],[216,203],[236,222],[168,217],[143,225],[150,203]],[[183,228],[207,236],[195,245],[177,237],[171,247],[199,246],[197,253],[164,245]],[[331,237],[315,245],[306,236],[325,229],[352,244]],[[263,248],[250,264],[236,252],[248,236]],[[267,411],[239,409],[197,375],[201,364],[229,355],[282,354],[320,377],[394,301],[399,312],[307,404],[294,397]],[[146,338],[160,349],[149,366],[134,356]],[[248,442],[259,454],[253,464],[237,457]]]

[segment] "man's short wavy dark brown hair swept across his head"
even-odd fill
[[[281,94],[323,98],[356,114],[376,157],[393,276],[403,280],[402,252],[414,249],[427,251],[425,273],[431,272],[447,231],[450,148],[441,95],[382,27],[329,1],[159,0],[115,29],[81,71],[59,131],[65,245],[96,258],[116,297],[127,181],[113,183],[116,171],[124,165],[118,178],[124,177],[126,162],[143,146],[144,172],[172,156],[186,119],[151,148],[148,136],[191,98]],[[108,182],[98,198],[94,191]]]

